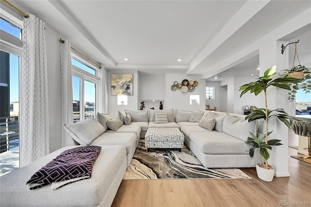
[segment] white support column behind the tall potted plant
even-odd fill
[[[282,73],[282,69],[288,68],[288,52],[281,54],[280,48],[282,44],[287,44],[286,41],[267,40],[259,49],[259,65],[260,76],[263,75],[266,69],[276,65],[277,73]],[[288,50],[288,49],[287,49]],[[283,108],[286,112],[289,111],[288,92],[280,88],[268,88],[268,109],[274,110]],[[277,119],[269,120],[269,131],[273,133],[269,139],[281,139],[283,145],[275,146],[272,151],[269,150],[270,159],[269,165],[275,169],[276,177],[290,176],[288,172],[288,128]]]

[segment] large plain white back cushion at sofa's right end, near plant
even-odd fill
[[[233,117],[230,114],[225,114],[223,132],[232,137],[246,141],[250,136],[250,132],[257,135],[257,121],[244,121],[242,118]]]

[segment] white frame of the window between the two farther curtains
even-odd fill
[[[93,75],[89,72],[87,72],[84,69],[80,69],[71,63],[71,73],[72,76],[76,76],[80,78],[80,121],[84,120],[84,112],[85,112],[85,81],[91,82],[95,84],[95,108],[94,108],[94,115],[96,116],[98,112],[98,104],[99,104],[99,77],[97,76],[97,70],[92,64],[86,64],[87,61],[82,59],[81,57],[77,56],[73,52],[71,52],[71,58],[76,59],[80,63],[86,65],[87,67],[94,69],[96,71],[96,75]],[[73,98],[72,98],[73,100]]]

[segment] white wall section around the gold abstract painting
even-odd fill
[[[111,95],[111,73],[115,74],[133,74],[133,96],[127,96],[127,105],[118,105],[118,96]],[[118,116],[118,110],[123,111],[124,109],[137,111],[139,109],[138,103],[138,71],[137,70],[108,70],[108,112],[112,112],[116,117]]]

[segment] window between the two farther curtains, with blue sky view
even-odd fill
[[[71,58],[71,64],[73,122],[77,122],[89,116],[95,117],[99,78],[96,76],[96,70],[82,61]]]

